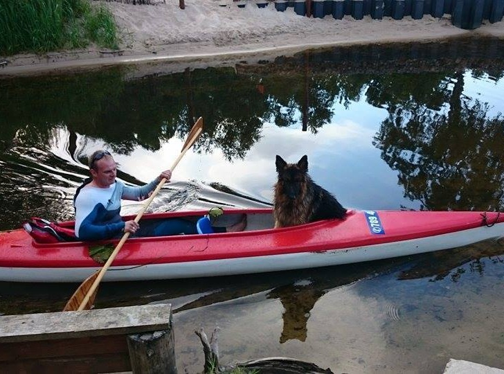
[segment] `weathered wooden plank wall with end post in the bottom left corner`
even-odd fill
[[[138,336],[163,349],[147,357]],[[0,373],[174,373],[173,341],[170,304],[0,316]]]

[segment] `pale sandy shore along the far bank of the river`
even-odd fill
[[[226,4],[220,6],[219,4]],[[107,6],[120,29],[120,50],[91,46],[80,51],[45,55],[1,57],[0,75],[26,75],[91,69],[113,64],[170,62],[214,66],[236,61],[257,61],[289,55],[306,48],[348,44],[431,41],[482,35],[504,37],[504,22],[485,24],[476,30],[451,25],[449,16],[435,19],[405,17],[375,20],[365,17],[341,20],[301,17],[292,8],[278,12],[273,3],[258,8],[248,3],[238,8],[231,0],[186,0],[181,10],[176,0],[151,6],[96,2]],[[6,62],[6,64],[5,64]]]

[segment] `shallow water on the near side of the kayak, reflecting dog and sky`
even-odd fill
[[[492,352],[504,348],[496,320],[504,306],[500,297],[504,267],[499,262],[504,247],[497,248],[487,242],[320,269],[103,283],[96,308],[172,303],[177,364],[189,373],[203,364],[192,334],[200,326],[222,329],[223,362],[284,355],[343,372],[427,373],[438,372],[450,356],[469,359],[469,349],[477,352],[479,362],[498,366],[499,356]],[[418,272],[424,267],[429,271]],[[73,284],[0,283],[0,314],[61,310],[73,291]],[[476,330],[471,327],[475,323]],[[433,341],[438,335],[443,338]],[[415,356],[431,357],[425,371],[417,370],[420,363]]]

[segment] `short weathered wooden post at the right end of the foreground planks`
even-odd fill
[[[167,330],[129,335],[127,341],[133,373],[177,374],[171,315]]]

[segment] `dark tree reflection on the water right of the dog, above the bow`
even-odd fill
[[[403,80],[402,86],[414,82]],[[432,100],[403,97],[389,104],[389,116],[374,143],[388,165],[399,171],[406,197],[420,200],[424,208],[501,208],[504,119],[500,114],[488,118],[487,105],[462,96],[462,73],[451,82],[451,90],[444,80],[427,84],[424,91],[431,93]],[[401,93],[395,93],[394,87],[375,87],[370,100],[383,100],[383,91],[399,98]],[[442,107],[439,98],[447,100],[449,109]]]

